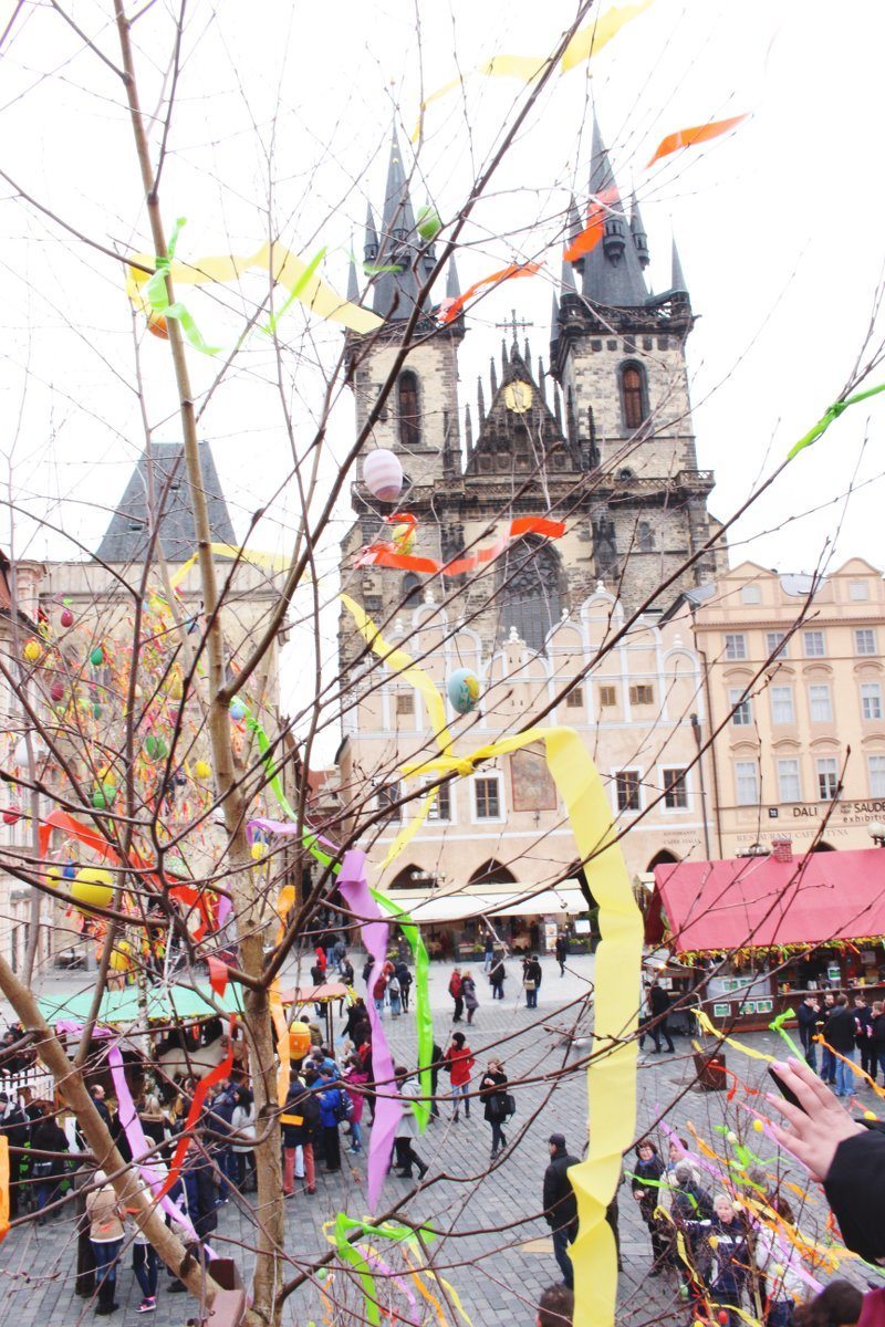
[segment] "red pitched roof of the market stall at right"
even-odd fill
[[[654,868],[646,940],[679,954],[885,936],[885,848]]]

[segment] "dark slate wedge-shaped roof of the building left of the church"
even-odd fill
[[[151,455],[154,500],[159,511],[163,553],[170,563],[184,563],[196,551],[196,527],[187,486],[184,447],[180,442],[154,442]],[[212,539],[219,544],[234,544],[236,543],[234,525],[207,442],[200,442],[200,463]],[[119,506],[110,518],[97,557],[103,563],[143,561],[149,541],[147,454],[143,454],[126,484]]]

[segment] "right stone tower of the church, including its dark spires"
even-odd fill
[[[608,206],[604,234],[580,264],[563,264],[551,372],[573,405],[576,445],[597,467],[605,519],[589,518],[594,563],[620,580],[630,609],[710,537],[713,476],[695,455],[685,357],[694,314],[679,256],[674,245],[670,288],[649,295],[645,226],[636,199],[628,216],[598,125],[592,154],[589,195]],[[705,555],[679,588],[714,569],[715,555]]]

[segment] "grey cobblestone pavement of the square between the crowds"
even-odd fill
[[[434,1262],[456,1286],[464,1308],[475,1327],[528,1327],[535,1323],[535,1304],[540,1290],[559,1279],[549,1231],[540,1216],[540,1193],[548,1161],[547,1139],[551,1132],[565,1133],[569,1148],[580,1151],[586,1119],[586,1087],[582,1071],[561,1075],[563,1068],[581,1058],[582,1047],[571,1046],[564,1030],[575,1030],[581,994],[588,990],[592,959],[579,957],[572,971],[561,978],[552,963],[545,963],[545,979],[537,1011],[524,1007],[517,982],[508,986],[510,999],[492,1003],[483,995],[475,1026],[463,1030],[483,1066],[492,1046],[506,1062],[512,1079],[525,1079],[516,1091],[517,1113],[508,1128],[510,1148],[491,1177],[478,1184],[490,1165],[490,1125],[482,1111],[474,1108],[470,1120],[452,1123],[451,1111],[443,1105],[442,1120],[433,1124],[417,1148],[430,1165],[427,1181],[407,1204],[410,1218],[421,1220],[442,1237],[434,1243]],[[437,1039],[444,1044],[451,1031],[444,987],[450,969],[434,967],[434,1013]],[[488,987],[484,986],[486,995]],[[571,1009],[559,1006],[572,1002]],[[585,1032],[582,1020],[579,1032]],[[411,1020],[387,1020],[387,1032],[395,1058],[414,1063],[415,1039]],[[774,1036],[756,1036],[755,1044],[775,1050]],[[586,1043],[585,1043],[586,1044]],[[647,1055],[640,1067],[640,1127],[645,1128],[674,1099],[670,1123],[685,1132],[691,1120],[703,1137],[714,1137],[714,1125],[722,1121],[724,1093],[701,1093],[690,1089],[694,1080],[691,1047],[685,1036],[677,1038],[675,1055]],[[736,1060],[743,1063],[736,1064]],[[762,1066],[732,1056],[730,1064],[748,1083],[756,1083]],[[448,1080],[441,1075],[442,1084]],[[340,1174],[320,1174],[316,1197],[300,1193],[287,1204],[288,1275],[309,1266],[329,1249],[322,1222],[338,1210],[350,1216],[365,1214],[365,1154],[344,1153]],[[628,1162],[629,1165],[629,1162]],[[410,1185],[389,1177],[385,1206],[406,1196]],[[253,1197],[235,1200],[219,1212],[219,1230],[212,1239],[218,1251],[230,1253],[248,1275],[253,1242],[253,1225],[248,1206]],[[675,1281],[662,1277],[649,1281],[651,1257],[647,1231],[638,1220],[629,1185],[620,1190],[621,1278],[618,1324],[685,1323],[685,1307],[675,1295]],[[121,1311],[111,1322],[134,1323],[138,1318],[138,1286],[127,1266],[118,1281]],[[93,1316],[90,1304],[73,1295],[74,1241],[69,1218],[44,1227],[13,1230],[0,1246],[0,1275],[5,1283],[3,1323],[13,1327],[56,1327],[74,1324]],[[161,1327],[184,1324],[194,1315],[194,1302],[184,1295],[166,1292],[161,1278],[158,1311],[153,1320]],[[284,1320],[306,1327],[320,1316],[314,1286],[305,1285],[287,1302]]]

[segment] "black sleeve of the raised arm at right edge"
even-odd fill
[[[824,1176],[843,1239],[866,1262],[885,1258],[885,1131],[881,1121],[843,1139]]]

